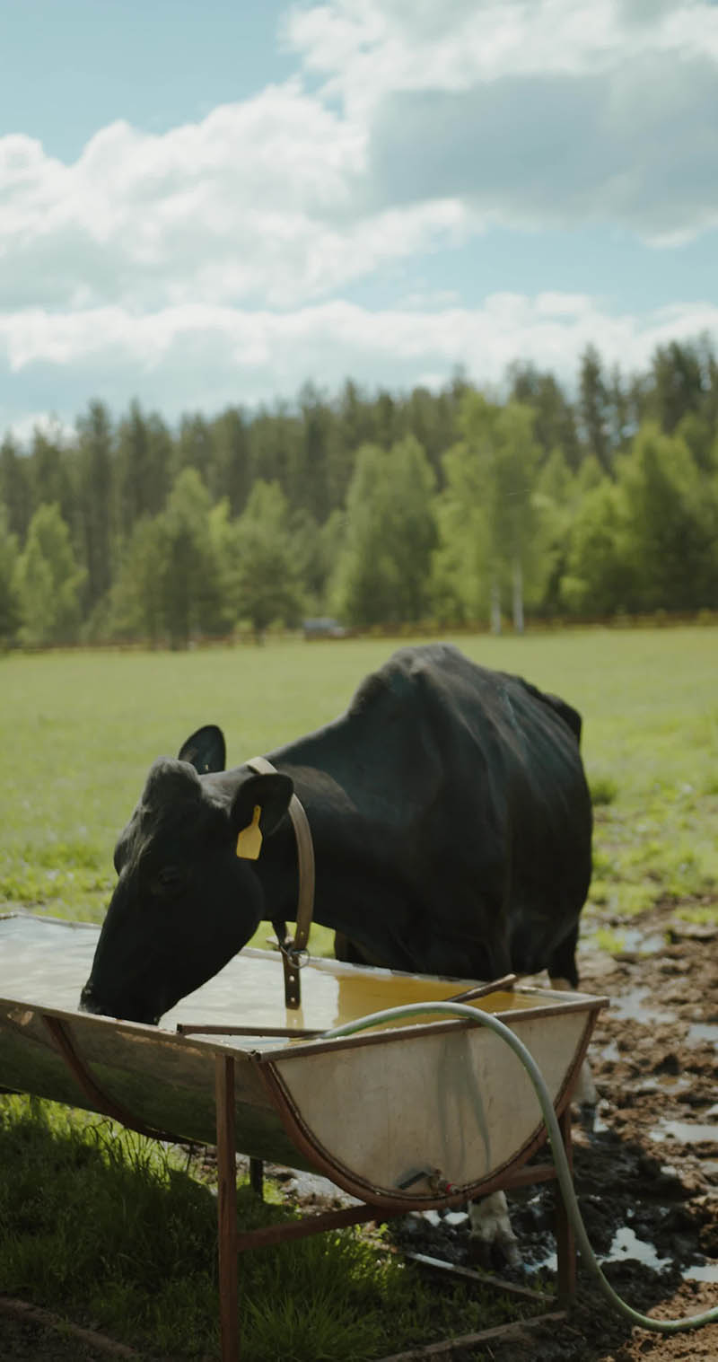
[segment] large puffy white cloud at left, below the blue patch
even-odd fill
[[[296,82],[202,123],[102,128],[69,166],[0,139],[5,306],[296,306],[469,230],[459,203],[366,211],[365,132]]]

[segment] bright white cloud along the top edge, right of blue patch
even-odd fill
[[[586,75],[653,52],[718,60],[711,0],[324,0],[285,39],[347,102],[467,90],[523,75]]]

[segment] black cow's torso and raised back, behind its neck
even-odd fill
[[[346,810],[335,858],[343,846],[353,868],[362,846],[366,868],[383,859],[405,887],[416,968],[462,972],[462,959],[484,972],[511,956],[530,972],[569,934],[589,887],[579,734],[565,701],[435,643],[395,652],[341,719],[278,757],[309,801],[307,768],[328,782],[320,838],[327,799]]]

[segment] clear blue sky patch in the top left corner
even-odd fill
[[[64,161],[127,118],[168,132],[286,80],[286,4],[262,0],[5,0],[0,135],[25,132]]]

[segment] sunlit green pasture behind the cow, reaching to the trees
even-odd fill
[[[594,628],[455,642],[583,714],[597,805],[593,902],[617,917],[666,893],[704,908],[699,900],[718,881],[718,631]],[[283,640],[1,659],[0,902],[99,921],[114,839],[155,756],[174,755],[208,722],[225,730],[230,764],[266,753],[339,714],[394,647],[388,639]]]

